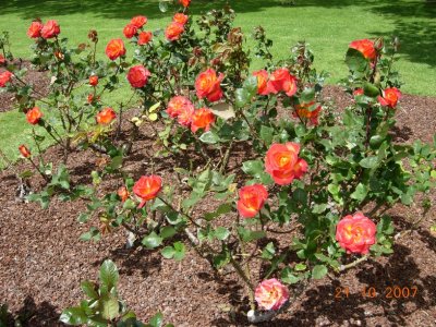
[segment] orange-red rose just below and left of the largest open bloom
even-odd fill
[[[262,209],[267,198],[268,191],[266,191],[264,185],[253,184],[243,186],[239,191],[238,211],[241,217],[253,218]]]

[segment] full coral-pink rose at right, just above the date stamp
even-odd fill
[[[336,226],[336,240],[347,253],[368,253],[376,242],[375,234],[375,223],[362,213],[348,215]]]

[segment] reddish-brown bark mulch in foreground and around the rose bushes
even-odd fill
[[[327,87],[325,96],[342,108],[350,101],[338,87]],[[405,95],[401,107],[397,136],[403,142],[431,141],[436,131],[436,117],[432,114],[436,98]],[[133,155],[125,162],[134,178],[149,173],[152,143],[143,136],[134,144]],[[245,156],[245,149],[238,148],[230,165],[238,167]],[[60,154],[53,147],[46,157],[58,161]],[[95,161],[90,152],[74,153],[69,160],[73,181],[89,182]],[[165,158],[155,165],[169,184],[174,181],[172,167],[182,162]],[[19,164],[15,168],[25,167]],[[25,326],[61,326],[57,323],[60,312],[78,303],[83,298],[80,282],[95,280],[105,258],[118,265],[121,298],[142,319],[161,311],[166,322],[175,326],[247,326],[238,312],[241,306],[246,311],[247,299],[234,274],[216,276],[194,251],[177,263],[164,259],[158,252],[125,250],[122,230],[97,243],[81,242],[78,237],[92,225],[76,221],[85,203],[55,199],[48,210],[43,210],[35,203],[15,202],[16,185],[11,170],[0,172],[0,299],[14,315],[27,316]],[[37,179],[33,186],[38,187]],[[107,191],[118,186],[113,180],[104,185]],[[435,205],[435,192],[429,196]],[[423,211],[417,202],[411,207],[398,205],[388,214],[399,231],[410,228]],[[312,282],[287,313],[261,326],[436,326],[436,238],[429,232],[435,222],[436,214],[429,210],[414,231],[398,239],[391,256]],[[280,237],[280,247],[290,239]],[[259,278],[258,270],[253,275]],[[388,299],[387,290],[395,286],[411,290],[416,287],[417,291],[413,298]],[[371,287],[377,296],[362,294]],[[348,288],[349,295],[342,293],[336,299],[338,288]]]

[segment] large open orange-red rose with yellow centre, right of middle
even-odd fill
[[[272,144],[265,157],[265,170],[279,185],[288,185],[307,171],[307,162],[299,158],[300,144]]]

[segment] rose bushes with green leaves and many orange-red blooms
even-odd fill
[[[106,46],[106,61],[96,60],[95,31],[90,45],[68,49],[58,23],[31,24],[34,63],[47,66],[55,81],[49,96],[40,99],[13,64],[0,75],[0,86],[14,92],[29,123],[64,150],[64,165],[53,170],[39,152],[35,162],[33,149],[20,147],[46,180],[46,187],[28,198],[45,207],[56,194],[86,201],[78,220],[94,227],[82,240],[110,238],[124,228],[128,247],[159,249],[165,258],[180,261],[191,246],[218,275],[231,266],[246,287],[251,322],[272,318],[329,269],[339,274],[362,255],[390,254],[393,227],[382,209],[412,204],[417,192],[434,186],[436,175],[436,144],[393,142],[401,104],[392,69],[396,41],[349,45],[350,75],[342,82],[349,106],[338,111],[323,100],[326,74],[313,68],[306,44],[276,61],[271,40],[256,27],[254,53],[264,66],[253,70],[245,35],[233,26],[229,7],[201,15],[195,24],[190,1],[174,2],[172,22],[158,31],[144,31],[142,15],[126,22]],[[132,53],[118,38],[122,35]],[[129,120],[128,140],[119,136],[122,109],[130,102],[102,105],[105,93],[123,82],[143,110]],[[76,90],[82,85],[92,93]],[[44,114],[34,111],[38,98]],[[55,110],[58,124],[48,119]],[[124,162],[141,133],[153,135],[156,150],[152,164],[135,174]],[[35,142],[41,137],[36,134]],[[92,185],[71,183],[66,167],[73,149],[99,159]],[[166,158],[177,164],[160,175],[154,162]],[[118,182],[110,192],[104,187],[108,174]],[[270,241],[278,235],[284,246]],[[254,277],[253,265],[267,268]]]

